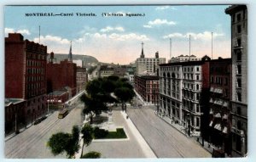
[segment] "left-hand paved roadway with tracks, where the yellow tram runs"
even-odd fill
[[[71,132],[74,125],[81,125],[81,108],[84,104],[78,104],[64,119],[58,119],[55,111],[48,118],[26,131],[5,142],[5,157],[11,159],[36,159],[36,158],[67,158],[66,154],[54,156],[50,153],[46,142],[52,134],[59,131]]]

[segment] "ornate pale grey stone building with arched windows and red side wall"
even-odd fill
[[[207,108],[209,61],[160,64],[160,115],[184,126],[189,136],[201,135],[201,120]]]

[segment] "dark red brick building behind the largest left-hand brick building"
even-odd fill
[[[54,55],[54,53],[50,54]],[[60,64],[49,61],[46,73],[48,93],[61,90],[63,87],[69,87],[71,89],[71,96],[76,94],[77,65],[72,61],[65,59]]]

